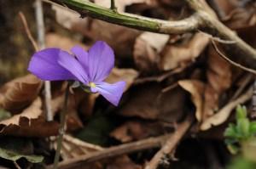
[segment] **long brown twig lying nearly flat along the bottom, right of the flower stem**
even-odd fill
[[[101,151],[91,152],[90,155],[81,155],[77,158],[67,161],[61,161],[59,169],[72,169],[74,166],[85,165],[86,163],[100,161],[105,158],[111,158],[118,155],[130,154],[133,152],[141,151],[143,149],[158,148],[166,142],[167,138],[170,138],[172,134],[166,134],[156,138],[146,138],[137,142],[128,144],[121,144],[110,148],[103,149]],[[50,168],[50,166],[48,167]]]

